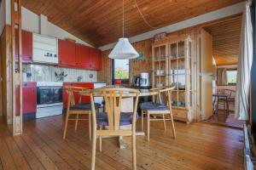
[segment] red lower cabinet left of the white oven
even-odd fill
[[[20,115],[19,88],[16,87],[16,115]],[[22,88],[23,120],[35,118],[37,112],[37,82],[23,82]]]

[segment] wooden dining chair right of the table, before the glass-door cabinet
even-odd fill
[[[142,129],[143,129],[143,115],[148,115],[148,141],[149,141],[149,132],[150,132],[150,122],[151,121],[163,121],[164,122],[164,128],[166,130],[166,121],[172,122],[172,133],[173,138],[176,139],[176,132],[173,122],[173,116],[172,116],[172,99],[171,94],[172,90],[175,87],[172,88],[154,88],[154,91],[158,91],[158,98],[160,100],[160,103],[156,102],[145,102],[140,105],[142,110]],[[161,101],[161,94],[163,94],[166,97],[166,105],[162,104]],[[166,118],[166,115],[170,116],[170,118]],[[153,118],[150,118],[150,116],[154,116]],[[161,118],[160,118],[161,116]]]

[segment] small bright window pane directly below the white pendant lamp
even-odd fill
[[[129,79],[129,59],[114,59],[114,79]]]

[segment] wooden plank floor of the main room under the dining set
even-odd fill
[[[137,169],[243,169],[240,130],[203,122],[175,122],[174,140],[168,125],[165,132],[161,123],[152,122],[149,143],[146,137],[137,137]],[[63,140],[62,116],[25,122],[24,134],[16,137],[0,126],[0,170],[90,169],[87,124],[79,123],[77,133],[73,127],[70,123],[67,139]],[[102,139],[102,153],[96,152],[96,169],[131,169],[130,141],[125,138],[127,149],[119,150],[117,139]]]

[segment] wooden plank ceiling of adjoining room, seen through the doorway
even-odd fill
[[[212,34],[217,65],[236,65],[239,54],[241,15],[205,28]]]

